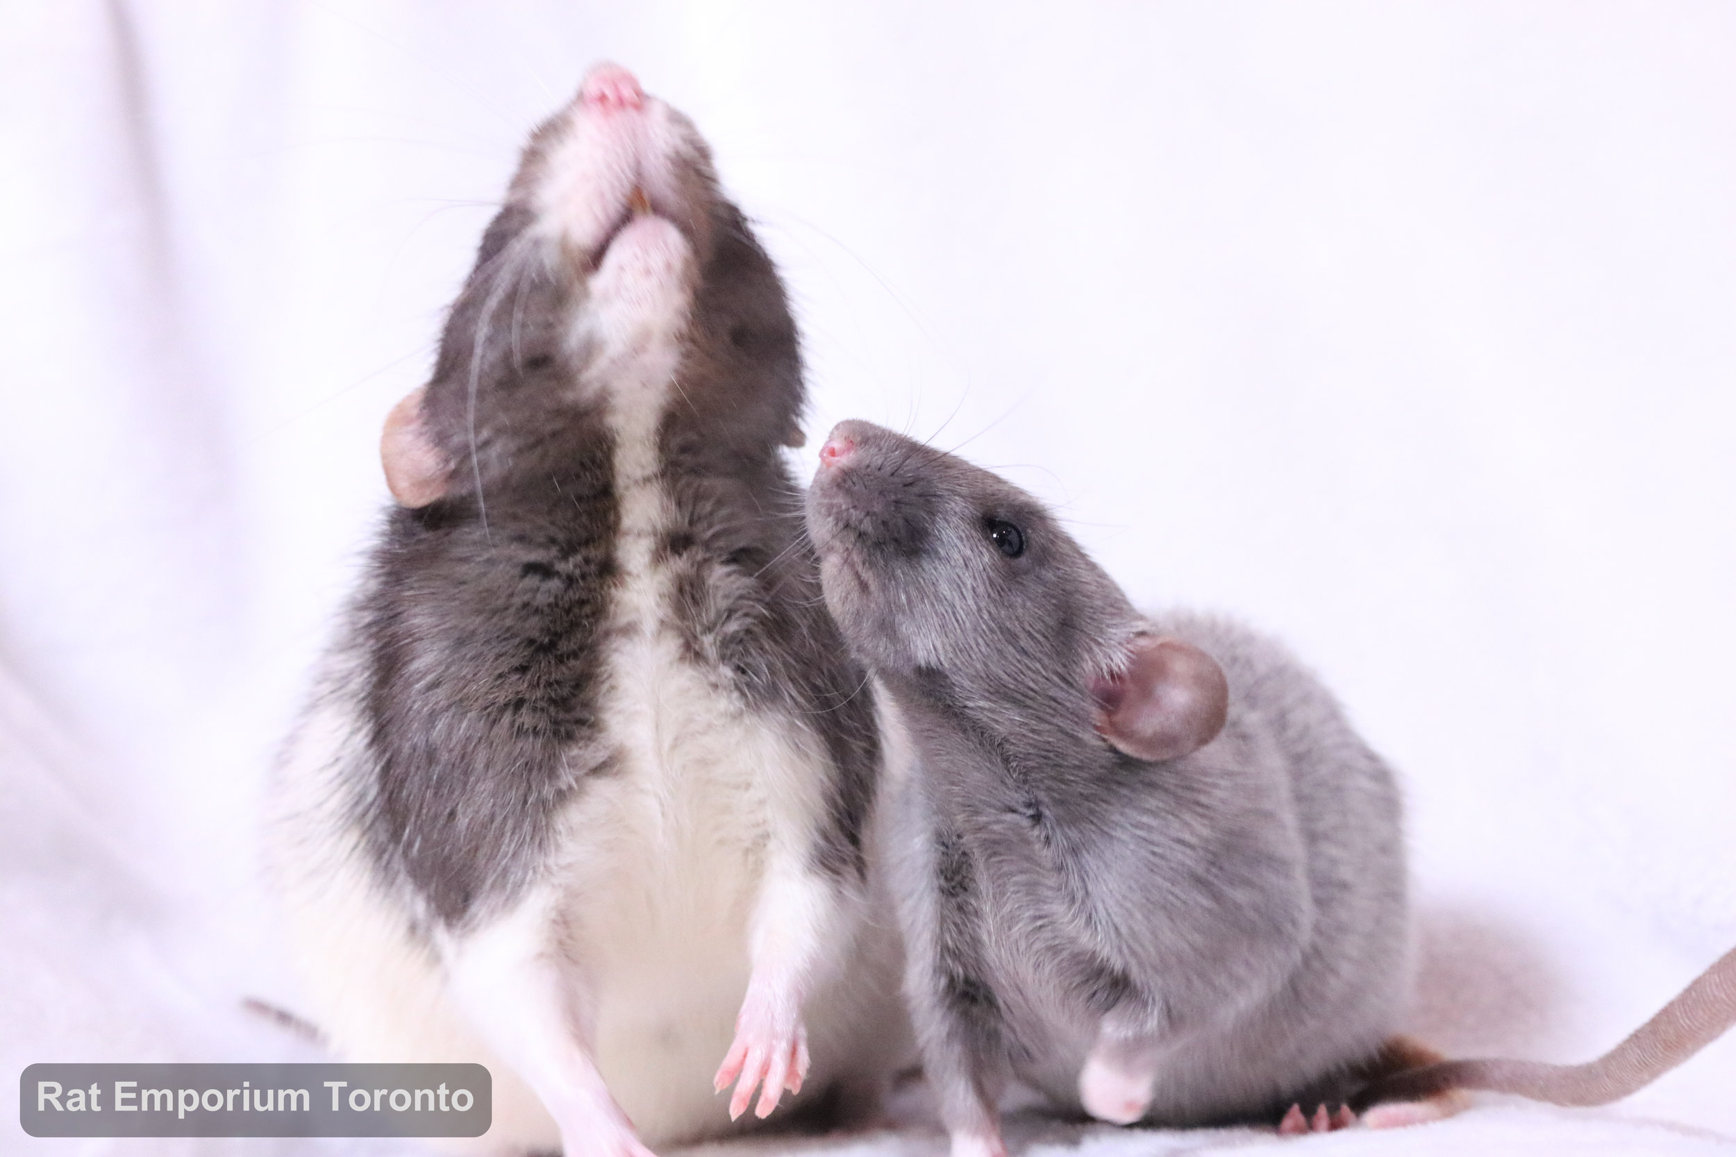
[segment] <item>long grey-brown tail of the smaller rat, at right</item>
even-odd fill
[[[1635,1093],[1719,1039],[1736,1023],[1736,951],[1665,1004],[1634,1036],[1583,1065],[1528,1060],[1450,1060],[1368,1084],[1351,1105],[1417,1101],[1450,1089],[1514,1093],[1554,1105],[1608,1105]]]

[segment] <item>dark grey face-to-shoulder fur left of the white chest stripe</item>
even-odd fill
[[[375,777],[358,819],[448,923],[531,879],[562,801],[611,756],[585,741],[615,581],[613,441],[599,404],[564,389],[582,286],[526,245],[531,224],[509,203],[483,236],[422,404],[451,486],[387,515],[356,612]]]

